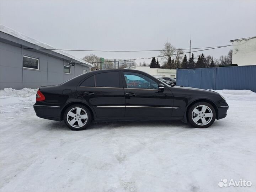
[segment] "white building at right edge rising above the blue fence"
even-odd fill
[[[230,42],[233,44],[232,64],[256,65],[256,36]]]

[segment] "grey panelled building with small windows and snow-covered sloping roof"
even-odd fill
[[[90,67],[84,60],[0,25],[0,89],[61,84]]]

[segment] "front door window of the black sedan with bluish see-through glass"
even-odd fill
[[[127,88],[158,89],[158,83],[145,75],[133,72],[124,72]]]

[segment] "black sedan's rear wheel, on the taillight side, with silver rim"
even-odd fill
[[[71,105],[65,110],[63,119],[69,129],[85,130],[91,123],[92,115],[83,105]]]

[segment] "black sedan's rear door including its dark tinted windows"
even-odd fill
[[[77,87],[80,98],[94,109],[97,118],[124,117],[125,99],[120,77],[120,71],[99,72]]]

